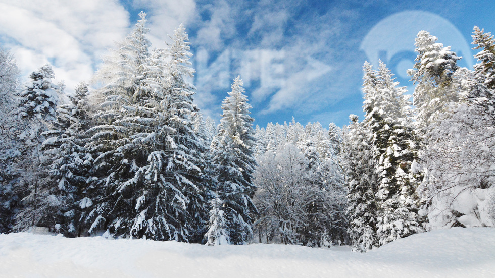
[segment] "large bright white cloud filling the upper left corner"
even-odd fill
[[[0,10],[0,43],[16,55],[24,75],[50,62],[68,91],[91,77],[129,26],[118,1],[0,0]]]

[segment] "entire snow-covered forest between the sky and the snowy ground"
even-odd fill
[[[365,117],[253,126],[240,76],[217,125],[193,104],[184,26],[165,49],[146,14],[74,94],[47,64],[20,83],[0,49],[0,233],[351,245],[495,224],[495,40],[474,27],[474,70],[427,31],[412,96],[363,65]],[[89,82],[89,81],[87,81]]]

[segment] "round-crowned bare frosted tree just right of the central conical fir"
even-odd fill
[[[307,182],[307,160],[296,146],[287,144],[276,153],[267,151],[259,161],[255,203],[260,240],[265,236],[267,243],[303,243],[307,204],[315,194]]]

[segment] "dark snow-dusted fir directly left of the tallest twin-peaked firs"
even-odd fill
[[[51,161],[51,192],[60,201],[64,213],[58,217],[59,232],[70,237],[81,236],[83,229],[89,229],[84,218],[87,210],[92,209],[86,183],[94,160],[92,151],[86,148],[85,131],[91,125],[87,94],[88,85],[82,82],[74,95],[68,97],[69,102],[57,107],[56,129],[44,133],[52,138],[42,146],[47,162]]]

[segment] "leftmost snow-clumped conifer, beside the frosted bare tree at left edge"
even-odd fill
[[[16,191],[23,192],[23,208],[17,215],[15,230],[22,231],[32,226],[53,228],[53,215],[59,213],[60,202],[50,194],[50,184],[46,178],[48,172],[43,166],[45,157],[41,144],[45,140],[42,135],[48,127],[56,122],[57,89],[52,83],[55,77],[52,67],[42,66],[29,76],[31,81],[24,85],[19,93],[19,116],[23,119],[22,155],[17,157],[18,168],[22,174],[16,184]],[[25,163],[31,161],[31,163]]]

